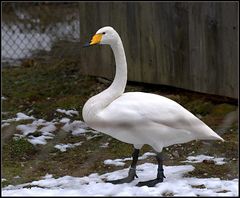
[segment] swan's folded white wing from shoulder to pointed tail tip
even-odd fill
[[[113,125],[135,127],[138,124],[151,126],[154,123],[189,131],[196,138],[220,139],[212,129],[180,104],[156,94],[124,93],[100,112],[99,116]]]

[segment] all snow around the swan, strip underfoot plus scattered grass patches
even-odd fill
[[[16,126],[19,134],[15,138],[25,137],[34,145],[47,144],[49,139],[55,137],[54,132],[61,127],[66,133],[78,136],[90,132],[87,125],[81,120],[72,120],[73,114],[78,115],[75,110],[57,109],[56,112],[61,115],[69,116],[56,118],[52,121],[37,119],[33,116],[17,113],[16,118],[2,120],[2,128],[13,121],[28,120],[28,124],[19,124]],[[33,134],[38,132],[38,136]],[[92,132],[92,131],[91,131]],[[93,136],[86,136],[86,141],[98,137],[100,134],[95,132]],[[74,144],[58,143],[54,145],[61,152],[68,152],[76,146],[81,146],[82,142]],[[99,145],[107,147],[108,143]],[[147,152],[139,157],[139,160],[154,156],[154,153]],[[104,164],[111,166],[124,166],[126,161],[131,158],[107,159]],[[238,179],[221,180],[220,178],[196,178],[186,177],[185,174],[194,170],[195,163],[203,163],[204,160],[211,161],[216,166],[227,163],[228,159],[216,158],[214,156],[196,155],[188,156],[182,165],[164,166],[166,179],[163,183],[155,187],[137,187],[139,181],[154,179],[157,175],[157,165],[144,163],[137,166],[137,175],[134,181],[129,184],[113,185],[106,183],[105,180],[123,178],[128,173],[128,168],[109,172],[103,175],[92,173],[85,177],[72,177],[66,175],[56,178],[51,173],[43,176],[41,180],[32,181],[20,185],[9,185],[2,188],[3,196],[238,196]],[[16,179],[19,176],[16,175]],[[2,182],[6,181],[2,178]]]

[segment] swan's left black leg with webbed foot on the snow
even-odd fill
[[[132,164],[128,171],[128,176],[123,179],[117,179],[117,180],[108,180],[106,182],[112,183],[112,184],[123,184],[123,183],[130,183],[134,180],[135,177],[138,177],[136,174],[136,166],[138,161],[138,155],[139,155],[139,149],[134,148],[132,157]]]

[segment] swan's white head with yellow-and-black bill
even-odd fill
[[[96,44],[112,45],[118,40],[118,37],[118,33],[112,27],[106,26],[99,29],[85,47]]]

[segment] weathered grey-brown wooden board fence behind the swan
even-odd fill
[[[81,2],[82,44],[101,27],[122,38],[128,80],[238,98],[238,2]],[[107,46],[81,49],[85,74],[113,78]]]

